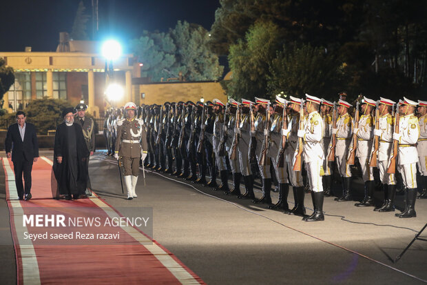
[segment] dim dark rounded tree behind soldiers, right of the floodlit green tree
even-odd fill
[[[308,93],[331,99],[342,90],[343,68],[324,48],[310,45],[291,50],[283,48],[271,61],[269,71],[267,86],[272,96],[284,92],[303,97]]]

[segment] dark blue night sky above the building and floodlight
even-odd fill
[[[54,51],[59,32],[71,32],[80,0],[6,0],[1,3],[0,52]],[[92,15],[92,1],[83,0]],[[97,39],[114,37],[127,43],[143,30],[166,32],[178,20],[198,23],[207,30],[219,0],[98,0]],[[92,19],[87,35],[92,35]]]

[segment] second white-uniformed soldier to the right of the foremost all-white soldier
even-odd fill
[[[351,105],[347,101],[340,99],[338,101],[337,113],[337,128],[331,130],[332,135],[336,135],[337,144],[335,146],[335,161],[337,161],[338,172],[342,177],[342,196],[335,198],[335,201],[351,201],[350,180],[351,171],[347,164],[348,148],[351,143],[351,135],[353,135],[353,121],[351,115],[348,114],[348,108]]]

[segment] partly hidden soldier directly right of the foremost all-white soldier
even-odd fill
[[[329,143],[331,142],[331,130],[332,130],[332,116],[331,110],[333,108],[333,103],[322,99],[320,104],[320,115],[322,116],[323,121],[323,139],[322,139],[322,148],[324,150],[325,159],[323,161],[323,170],[324,175],[323,180],[323,193],[325,197],[332,196],[332,162],[328,161],[328,148]]]

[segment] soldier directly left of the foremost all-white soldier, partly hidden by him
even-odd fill
[[[300,108],[301,99],[297,97],[290,96],[290,101],[288,102],[288,108],[291,111],[289,116],[289,124],[287,130],[282,129],[282,135],[287,136],[287,168],[289,169],[289,181],[291,182],[293,188],[293,199],[295,205],[288,212],[287,210],[284,213],[289,213],[289,215],[305,215],[305,206],[304,206],[304,184],[302,181],[301,171],[293,171],[293,164],[295,163],[295,157],[297,155],[297,146],[298,146],[298,128],[300,126]]]

